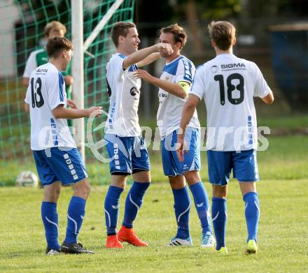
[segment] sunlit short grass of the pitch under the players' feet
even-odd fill
[[[273,167],[274,168],[274,167]],[[205,183],[209,193],[209,183]],[[246,224],[239,186],[230,183],[228,197],[229,254],[219,256],[200,247],[200,223],[192,207],[190,230],[194,246],[166,247],[176,232],[173,197],[169,185],[153,183],[135,221],[147,248],[125,244],[121,250],[104,249],[104,196],[107,186],[94,186],[87,202],[80,242],[95,255],[45,256],[40,219],[42,191],[0,189],[0,272],[307,272],[308,180],[265,180],[260,197],[259,253],[245,256]],[[125,193],[127,193],[126,189]],[[125,195],[124,193],[124,195]],[[62,190],[58,203],[59,240],[65,235],[66,207],[71,189]],[[124,197],[124,196],[123,196]],[[123,218],[125,198],[120,203]]]

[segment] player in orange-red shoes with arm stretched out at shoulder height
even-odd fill
[[[159,43],[138,50],[140,43],[136,25],[118,22],[113,25],[111,38],[117,53],[106,66],[106,79],[110,96],[109,117],[106,121],[105,140],[110,158],[111,186],[106,194],[104,210],[106,218],[106,247],[122,248],[121,242],[134,246],[147,246],[135,235],[133,222],[151,182],[150,161],[138,119],[141,80],[132,76],[139,66],[158,59],[162,52],[172,52],[171,45]],[[127,194],[123,226],[118,234],[118,209],[120,195],[125,189],[127,175],[134,183]]]

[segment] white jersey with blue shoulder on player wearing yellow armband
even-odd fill
[[[193,62],[181,55],[164,66],[160,79],[172,83],[188,82],[192,84],[194,75],[195,66]],[[182,110],[187,98],[179,98],[160,88],[158,99],[160,102],[157,115],[158,128],[160,129],[160,138],[165,138],[180,127]],[[196,110],[188,126],[200,128]]]

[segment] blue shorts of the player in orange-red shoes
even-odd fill
[[[150,170],[146,143],[141,135],[137,137],[120,137],[106,134],[106,147],[109,154],[109,169],[113,175],[130,175],[143,170]]]

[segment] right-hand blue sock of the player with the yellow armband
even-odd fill
[[[209,197],[206,189],[200,181],[190,186],[190,191],[193,193],[195,207],[202,226],[202,233],[207,233],[208,231],[212,233],[211,216],[209,214]]]

